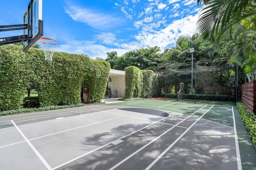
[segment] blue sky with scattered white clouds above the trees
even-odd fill
[[[1,0],[0,25],[23,23],[30,0]],[[106,59],[133,49],[174,47],[180,35],[196,33],[202,8],[196,0],[43,0],[44,37],[56,51]],[[0,37],[23,31],[0,32]]]

